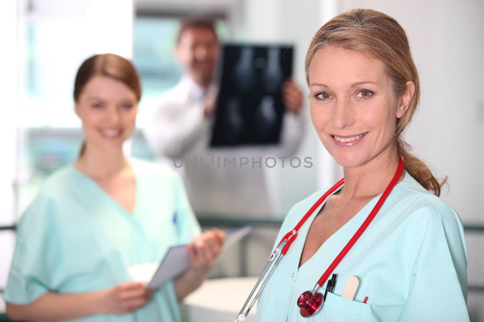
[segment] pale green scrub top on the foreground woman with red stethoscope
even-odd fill
[[[276,244],[326,190],[292,207]],[[334,294],[328,293],[323,307],[312,317],[300,315],[299,295],[313,289],[379,197],[365,205],[298,268],[309,227],[322,206],[315,210],[263,291],[257,304],[257,322],[469,321],[467,252],[461,220],[452,207],[430,194],[407,172],[334,269]],[[352,301],[341,297],[350,276],[360,281]],[[326,283],[320,289],[322,294]],[[363,303],[366,296],[368,301]]]

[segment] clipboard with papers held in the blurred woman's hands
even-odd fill
[[[239,242],[252,230],[252,225],[246,224],[228,230],[222,252]],[[161,263],[139,264],[128,267],[128,272],[134,281],[148,282],[147,288],[157,288],[167,280],[172,280],[190,267],[187,245],[172,246],[166,252]]]

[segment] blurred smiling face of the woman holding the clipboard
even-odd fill
[[[137,112],[135,92],[107,76],[94,76],[75,104],[88,146],[121,149],[134,131]]]

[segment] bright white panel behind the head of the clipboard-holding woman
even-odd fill
[[[133,0],[17,2],[24,29],[20,82],[34,87],[29,95],[24,86],[19,92],[21,126],[77,127],[72,105],[77,69],[94,54],[133,56]]]

